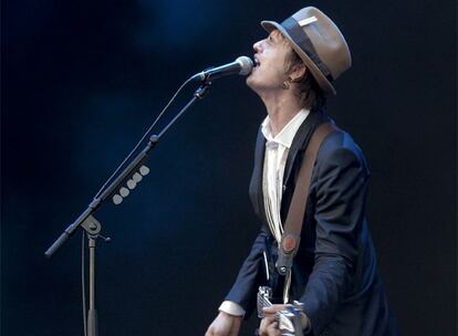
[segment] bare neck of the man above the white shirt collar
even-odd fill
[[[275,136],[302,108],[299,98],[292,91],[282,91],[280,94],[267,94],[261,96],[266,105],[272,136]]]

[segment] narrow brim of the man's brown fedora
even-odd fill
[[[290,36],[288,31],[280,23],[275,21],[261,21],[261,27],[268,33],[270,33],[272,30],[278,29],[288,39],[288,41],[291,43],[291,46],[294,49],[294,51],[298,53],[301,60],[305,63],[306,67],[312,73],[313,77],[316,80],[320,87],[326,94],[336,94],[336,91],[334,86],[331,84],[331,82],[327,81],[326,76],[323,75],[323,73],[315,65],[315,63],[309,57],[309,55],[304,51],[302,51],[302,49],[294,42],[294,40]]]

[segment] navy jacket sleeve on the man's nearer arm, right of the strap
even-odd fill
[[[322,147],[325,148],[320,149],[313,178],[315,264],[301,298],[314,335],[322,333],[350,291],[358,253],[358,230],[365,216],[368,177],[356,145]]]

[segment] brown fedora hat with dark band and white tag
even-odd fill
[[[345,38],[330,18],[314,7],[306,7],[282,23],[262,21],[269,33],[278,29],[290,42],[320,87],[335,94],[332,82],[352,66]]]

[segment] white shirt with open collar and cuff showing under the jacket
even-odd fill
[[[302,108],[274,137],[272,136],[269,116],[261,124],[261,132],[266,138],[262,193],[269,228],[278,242],[280,242],[281,234],[283,233],[280,206],[283,196],[284,166],[287,165],[292,140],[309,113],[309,109]],[[230,301],[225,301],[220,305],[219,311],[236,316],[244,315],[244,309]]]

